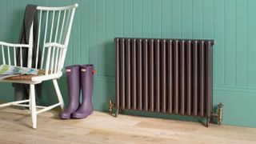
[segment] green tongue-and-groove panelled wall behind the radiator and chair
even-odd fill
[[[28,3],[78,2],[66,65],[93,63],[94,108],[114,98],[114,37],[214,38],[214,106],[224,103],[224,124],[256,126],[256,1],[254,0],[0,0],[0,40],[18,42]],[[59,80],[67,100],[66,78]],[[52,83],[43,104],[54,102]],[[13,99],[0,84],[1,99]],[[160,114],[161,115],[161,114]]]

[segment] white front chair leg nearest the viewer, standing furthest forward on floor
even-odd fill
[[[35,104],[34,85],[30,84],[30,106],[33,129],[37,128],[37,109]]]

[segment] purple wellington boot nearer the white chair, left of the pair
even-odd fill
[[[66,80],[69,94],[69,106],[64,110],[59,117],[69,119],[70,115],[78,110],[79,95],[80,95],[80,66],[66,66]]]

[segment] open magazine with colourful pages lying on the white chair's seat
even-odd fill
[[[37,69],[20,67],[20,66],[9,66],[9,65],[1,65],[0,66],[0,80],[4,78],[9,78],[22,74],[38,74]]]

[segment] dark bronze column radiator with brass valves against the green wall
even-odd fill
[[[115,38],[118,110],[218,117],[213,113],[214,40]],[[222,107],[222,104],[219,105]]]

